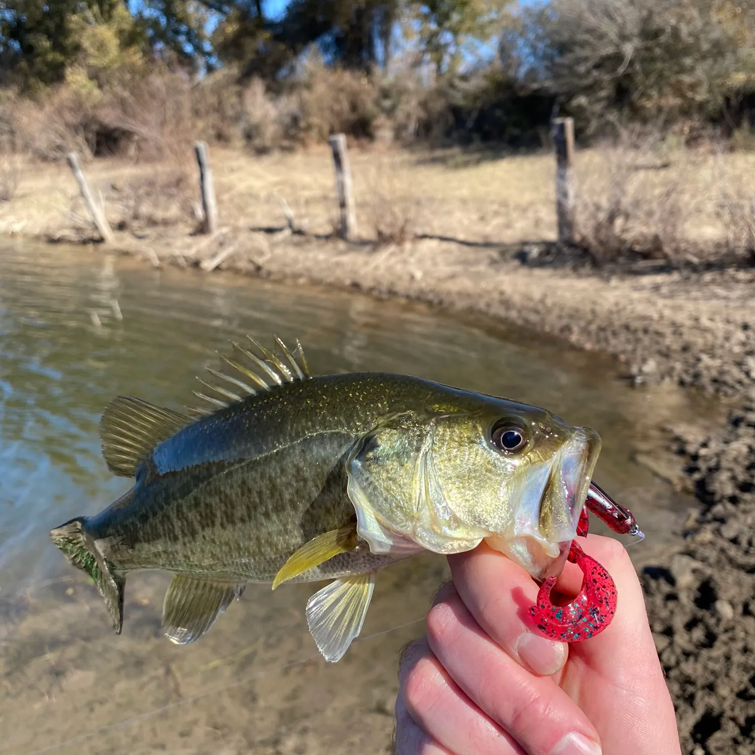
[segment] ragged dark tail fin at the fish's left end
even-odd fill
[[[123,587],[125,578],[115,574],[110,565],[97,550],[94,540],[84,529],[86,516],[77,516],[50,533],[50,538],[63,551],[66,558],[82,572],[86,572],[97,585],[100,595],[110,614],[112,628],[116,634],[123,626]]]

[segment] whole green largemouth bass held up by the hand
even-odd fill
[[[125,581],[171,572],[162,631],[203,636],[249,583],[327,581],[307,625],[338,661],[377,572],[485,541],[537,581],[578,534],[601,439],[544,408],[386,372],[313,375],[296,341],[220,354],[174,411],[118,396],[103,411],[109,470],[131,488],[51,530],[121,633]]]

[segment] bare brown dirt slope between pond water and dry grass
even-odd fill
[[[612,353],[637,382],[672,380],[738,396],[755,386],[755,271],[622,273],[529,267],[516,247],[421,240],[347,245],[281,234],[227,238],[185,256],[152,245],[166,263],[208,263],[271,278],[306,279],[482,313]]]

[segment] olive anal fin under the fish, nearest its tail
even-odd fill
[[[221,582],[186,575],[173,575],[162,604],[162,628],[176,645],[199,639],[225,611],[241,597],[243,584]]]

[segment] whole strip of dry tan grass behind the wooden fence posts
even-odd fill
[[[114,227],[177,239],[195,229],[199,192],[191,144],[175,151],[183,163],[95,159],[86,166]],[[419,234],[497,248],[556,237],[550,153],[501,157],[354,145],[350,151],[362,239],[402,244]],[[215,147],[211,165],[225,232],[286,227],[285,199],[298,229],[331,234],[337,200],[327,147],[263,156]],[[69,224],[77,201],[72,176],[64,166],[28,161],[22,172],[23,197],[5,203],[0,233],[23,226],[26,233],[54,235]],[[581,151],[575,166],[581,233],[600,262],[699,259],[722,250],[751,260],[753,172],[755,155],[744,153]]]

